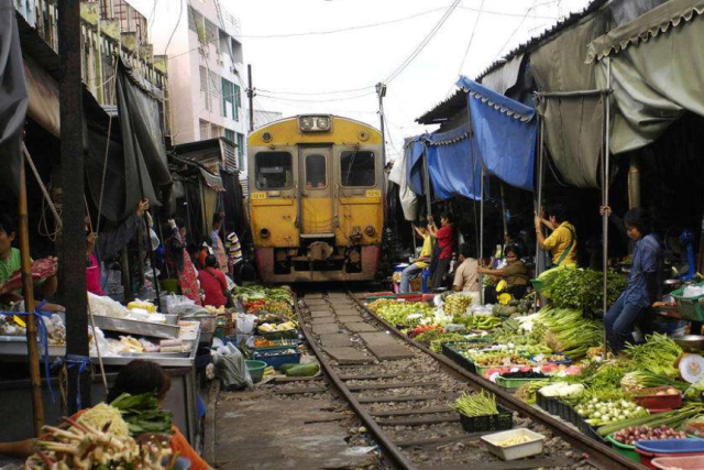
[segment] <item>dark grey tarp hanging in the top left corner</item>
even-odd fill
[[[28,108],[22,50],[11,0],[0,0],[0,175],[16,192]]]

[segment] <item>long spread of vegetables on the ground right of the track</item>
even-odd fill
[[[602,276],[591,270],[547,271],[535,282],[548,300],[537,311],[530,299],[481,305],[471,293],[444,293],[431,302],[372,295],[364,302],[415,341],[648,468],[673,449],[704,458],[698,439],[704,427],[702,337],[668,336],[644,326],[644,337],[618,357],[605,357]],[[626,278],[615,271],[607,278],[610,306]],[[703,289],[676,291],[668,315],[697,320]],[[463,422],[501,422],[501,406],[485,394],[463,395],[453,408]]]

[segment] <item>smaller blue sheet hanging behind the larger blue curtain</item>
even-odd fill
[[[482,199],[482,161],[476,149],[472,149],[469,123],[428,135],[426,155],[432,190],[438,199],[454,196]]]

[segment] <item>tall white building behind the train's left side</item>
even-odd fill
[[[152,3],[153,4],[153,3]],[[155,54],[168,63],[172,142],[223,136],[246,171],[245,67],[239,20],[218,0],[156,2]]]

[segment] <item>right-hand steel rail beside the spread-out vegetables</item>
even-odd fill
[[[356,298],[356,296],[352,292],[348,291],[348,295],[354,300],[354,303],[360,308],[362,308],[365,313],[372,316],[376,321],[384,325],[396,337],[403,339],[406,343],[415,348],[418,348],[419,350],[431,356],[433,359],[441,362],[443,365],[448,367],[453,372],[462,375],[462,378],[466,379],[469,382],[492,392],[497,396],[498,401],[503,405],[507,406],[508,408],[513,408],[514,411],[525,414],[529,416],[531,419],[551,428],[553,431],[557,431],[568,442],[578,447],[580,450],[587,452],[592,459],[598,461],[600,463],[603,463],[605,468],[609,470],[615,470],[615,469],[641,470],[646,468],[617,453],[610,447],[585,436],[579,430],[572,429],[571,427],[566,426],[564,423],[561,423],[558,419],[554,419],[553,417],[546,415],[542,412],[535,409],[532,406],[516,398],[510,393],[503,391],[501,387],[498,387],[498,385],[495,385],[487,380],[481,379],[477,375],[470,373],[464,368],[455,364],[453,361],[446,358],[444,356],[438,354],[431,351],[430,349],[426,348],[425,346],[419,345],[418,342],[414,341],[413,339],[408,338],[406,335],[400,332],[395,326],[391,325],[388,321],[378,317],[374,311],[369,309],[359,298]]]

